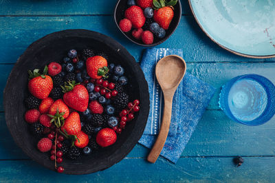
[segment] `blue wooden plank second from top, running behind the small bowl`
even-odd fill
[[[112,16],[0,17],[0,63],[14,63],[34,40],[62,29],[91,29],[118,40],[138,61],[144,47],[126,39]],[[179,27],[157,47],[182,48],[186,62],[274,62],[275,58],[252,59],[221,49],[199,28],[192,16],[182,16]]]

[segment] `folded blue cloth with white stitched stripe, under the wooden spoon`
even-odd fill
[[[164,106],[162,89],[155,78],[155,65],[159,59],[168,55],[182,57],[183,51],[182,49],[146,49],[140,63],[148,82],[151,106],[144,134],[139,143],[148,148],[153,146],[157,138]],[[161,156],[171,162],[177,162],[214,92],[214,87],[186,72],[173,98],[170,130]]]

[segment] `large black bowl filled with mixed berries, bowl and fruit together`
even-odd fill
[[[58,173],[94,173],[122,160],[142,136],[148,85],[118,42],[66,30],[23,53],[4,105],[14,141],[28,156]]]

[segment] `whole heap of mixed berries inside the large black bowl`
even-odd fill
[[[64,158],[75,160],[113,145],[140,110],[139,100],[129,102],[124,67],[108,62],[103,52],[84,49],[78,54],[72,49],[43,73],[28,71],[25,121],[58,173],[65,169]]]

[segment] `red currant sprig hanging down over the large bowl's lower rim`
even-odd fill
[[[47,138],[50,138],[51,140],[56,138],[54,141],[54,145],[52,145],[52,151],[51,151],[51,156],[50,159],[54,160],[54,164],[56,167],[56,170],[58,173],[63,173],[64,168],[63,167],[57,167],[56,163],[61,163],[63,162],[63,152],[62,151],[56,151],[56,148],[61,148],[63,145],[61,141],[64,141],[64,136],[59,135],[57,136],[57,133],[52,131],[50,134],[47,135]]]

